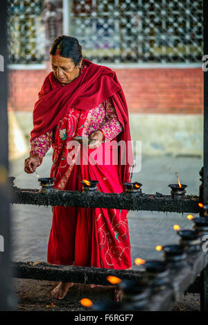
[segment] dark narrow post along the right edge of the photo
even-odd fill
[[[203,1],[204,21],[204,55],[208,55],[208,3]],[[207,61],[207,59],[206,59]],[[204,69],[204,173],[203,200],[208,203],[208,71]],[[200,306],[202,311],[208,311],[208,267],[200,273]]]

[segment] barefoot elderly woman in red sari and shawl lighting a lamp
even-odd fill
[[[132,176],[125,97],[114,71],[83,59],[81,49],[76,38],[64,35],[51,46],[53,71],[46,76],[35,103],[31,152],[24,170],[34,173],[52,146],[51,177],[55,178],[55,188],[81,191],[80,181],[96,179],[98,191],[121,193],[123,183],[130,182]],[[94,141],[87,151],[81,150],[84,146],[80,143],[72,150],[74,137]],[[119,141],[125,148],[111,146]],[[96,164],[94,150],[100,158],[103,152],[110,159],[118,154],[117,164],[112,160],[110,164]],[[123,157],[127,159],[122,164]],[[130,269],[127,213],[118,209],[53,207],[48,263]],[[63,299],[71,286],[73,283],[60,282],[51,292],[52,297]],[[119,297],[116,292],[117,301]]]

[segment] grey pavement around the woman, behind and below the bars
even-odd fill
[[[37,175],[35,173],[33,175],[24,173],[25,158],[26,157],[17,159],[10,164],[10,176],[16,177],[15,185],[20,188],[39,188]],[[37,173],[40,174],[40,177],[49,177],[51,161],[52,156],[51,151],[49,151],[44,158],[42,165],[37,168]],[[156,192],[159,192],[168,194],[170,193],[168,184],[177,183],[178,176],[180,177],[180,182],[182,184],[187,184],[188,187],[186,189],[188,195],[198,195],[200,186],[199,171],[201,168],[202,158],[200,157],[143,157],[141,171],[133,174],[132,182],[137,181],[142,183],[143,193],[155,194]],[[177,175],[175,175],[175,173],[177,173]],[[14,204],[11,205],[11,212],[12,261],[46,261],[47,243],[52,221],[51,207]],[[173,230],[173,225],[180,225],[182,229],[191,229],[193,227],[193,223],[186,218],[187,214],[188,213],[182,215],[180,213],[129,211],[128,222],[132,263],[134,263],[136,257],[145,260],[150,258],[161,259],[162,252],[157,252],[155,250],[156,245],[178,243],[179,238]],[[133,266],[133,269],[137,270],[137,268],[136,265]],[[53,309],[55,304],[53,304],[53,301],[49,299],[47,294],[49,293],[49,290],[51,290],[51,286],[54,286],[54,283],[51,284],[49,281],[31,281],[19,279],[15,281],[15,291],[17,292],[20,301],[18,305],[19,310],[24,310],[24,308],[26,308],[25,310]],[[37,286],[34,282],[37,282]],[[34,290],[33,286],[35,286]],[[37,302],[38,288],[41,288],[43,291],[45,290],[44,294],[47,297],[42,298],[42,303],[41,301]],[[78,292],[82,292],[82,286],[78,288],[81,288]],[[31,291],[31,294],[25,293],[30,292],[30,290],[33,291]],[[101,297],[101,288],[97,288],[96,290],[98,292],[98,297]],[[112,290],[110,290],[110,288],[107,289],[106,295],[106,297],[110,295],[112,296]],[[24,296],[26,297],[24,298]],[[35,303],[33,301],[35,307],[28,307],[33,305],[30,302],[30,299],[32,299],[30,297],[32,296],[33,299],[35,299]],[[71,292],[70,297],[73,297],[73,292]],[[70,300],[70,297],[67,299]],[[27,306],[26,303],[24,303],[24,299],[29,299]],[[49,300],[48,304],[46,302],[47,299]],[[94,299],[96,299],[96,296],[94,296]],[[198,295],[196,295],[195,298],[191,296],[190,299],[187,298],[187,304],[193,306],[191,310],[198,310]],[[191,303],[189,304],[190,301]],[[60,302],[60,308],[62,308],[61,304],[62,303]],[[82,307],[78,307],[76,304],[72,304],[71,308],[69,308],[69,304],[66,304],[64,305],[63,308],[65,309],[63,310],[66,310],[66,308],[67,310],[83,310]],[[182,306],[188,306],[187,304],[183,304],[184,302],[182,302]],[[185,310],[190,310],[190,306],[188,306],[187,309],[184,307]],[[177,306],[176,310],[179,309],[180,307]]]

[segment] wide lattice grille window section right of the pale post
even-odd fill
[[[69,35],[89,60],[202,60],[202,0],[68,1]]]

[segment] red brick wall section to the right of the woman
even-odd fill
[[[202,69],[116,70],[130,112],[200,114]]]

